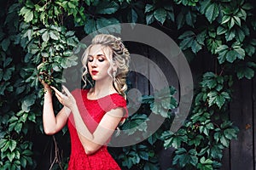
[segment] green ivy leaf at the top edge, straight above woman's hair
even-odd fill
[[[114,1],[103,1],[96,6],[97,14],[113,14],[119,9],[119,4]]]

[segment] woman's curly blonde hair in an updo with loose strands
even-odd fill
[[[113,87],[118,91],[119,94],[125,97],[125,91],[127,90],[127,84],[126,84],[126,77],[127,73],[129,71],[129,63],[130,63],[130,53],[128,52],[127,48],[125,48],[125,45],[121,41],[120,37],[114,37],[113,35],[109,34],[99,34],[96,35],[91,41],[91,44],[86,50],[84,51],[84,54],[82,56],[82,64],[84,65],[84,72],[82,75],[82,79],[84,81],[84,87],[86,86],[86,82],[88,81],[88,69],[87,69],[87,63],[88,63],[88,55],[90,52],[90,48],[93,45],[101,44],[102,50],[104,53],[108,56],[112,55],[112,59],[109,59],[110,62],[110,68],[108,70],[108,74],[110,69],[113,67],[113,65],[116,65],[117,71],[115,75],[110,75],[113,77]],[[110,50],[109,50],[110,49]]]

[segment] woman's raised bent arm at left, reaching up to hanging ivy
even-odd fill
[[[63,107],[57,116],[55,116],[51,89],[47,87],[44,89],[46,90],[43,108],[44,133],[51,135],[59,132],[61,128],[65,126],[70,111],[68,111],[66,107]]]

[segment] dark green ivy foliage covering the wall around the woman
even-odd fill
[[[175,133],[166,130],[174,99],[153,105],[156,96],[143,96],[144,108],[123,124],[137,128],[126,135],[147,132],[151,111],[166,122],[147,140],[113,156],[123,168],[157,169],[157,152],[174,147],[170,169],[221,167],[223,150],[238,133],[228,116],[232,82],[255,74],[253,1],[10,0],[2,1],[0,9],[0,169],[38,168],[32,142],[43,133],[38,77],[59,86],[61,71],[79,63],[82,37],[105,26],[110,27],[104,33],[120,32],[111,25],[124,22],[160,28],[189,59],[213,59],[215,69],[201,72],[191,114]]]

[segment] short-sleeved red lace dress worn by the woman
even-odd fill
[[[96,130],[98,123],[106,112],[117,107],[126,109],[126,101],[119,94],[110,94],[101,99],[87,99],[88,90],[74,90],[73,96],[79,107],[79,112],[84,123],[89,128],[90,133]],[[113,157],[108,153],[107,144],[97,150],[92,155],[86,155],[84,148],[79,140],[76,128],[74,127],[73,114],[71,113],[67,122],[71,139],[71,155],[68,162],[68,170],[110,170],[120,169]],[[109,140],[108,140],[109,141]]]

